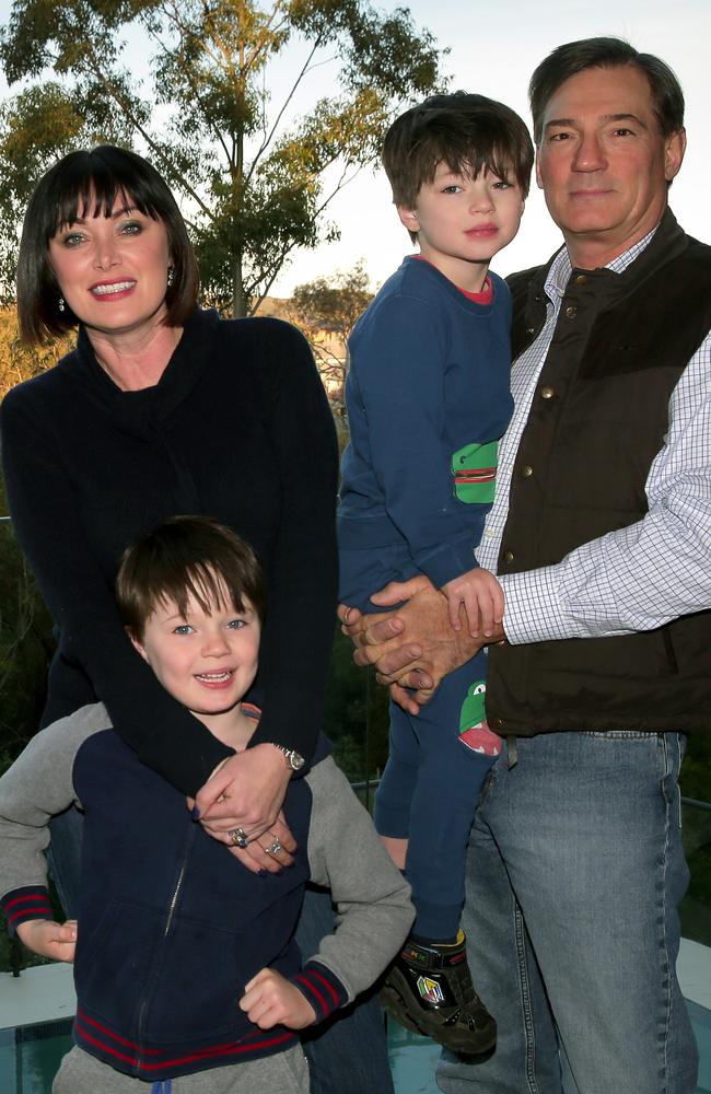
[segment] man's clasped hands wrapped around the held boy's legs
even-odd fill
[[[501,625],[486,638],[453,630],[446,597],[423,574],[391,582],[371,600],[383,607],[400,607],[386,615],[363,616],[341,605],[338,615],[343,633],[356,644],[356,663],[375,665],[378,683],[395,685],[391,688],[394,700],[413,714],[447,673],[469,661],[487,642],[505,637]]]

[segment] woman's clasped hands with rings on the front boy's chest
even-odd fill
[[[255,745],[219,765],[188,807],[199,811],[205,830],[225,843],[253,873],[275,873],[293,862],[296,842],[281,814],[291,778],[283,754],[270,744]],[[243,829],[246,848],[234,843],[231,831]],[[268,837],[265,836],[268,834]],[[259,841],[259,837],[261,841]],[[267,847],[280,845],[270,853]]]

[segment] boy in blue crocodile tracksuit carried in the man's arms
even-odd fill
[[[518,229],[533,146],[513,110],[457,92],[401,115],[383,164],[419,254],[385,282],[349,341],[340,600],[372,612],[371,594],[388,581],[424,573],[446,595],[453,626],[486,633],[501,621],[503,595],[476,548],[512,412],[511,303],[489,261]],[[391,705],[375,802],[417,909],[381,998],[405,1025],[461,1052],[496,1039],[459,931],[468,834],[500,748],[485,720],[485,680],[481,653],[417,718]]]

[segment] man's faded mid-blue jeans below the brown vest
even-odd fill
[[[475,817],[464,927],[499,1036],[446,1094],[692,1094],[676,979],[688,884],[676,733],[550,733],[504,748]]]

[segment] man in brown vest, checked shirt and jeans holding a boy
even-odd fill
[[[711,249],[667,208],[686,138],[666,65],[586,39],[529,91],[566,246],[511,279],[516,412],[478,550],[505,594],[483,640],[508,747],[473,829],[464,926],[499,1039],[439,1083],[692,1094],[677,777],[683,734],[711,732]],[[412,709],[482,639],[451,631],[424,579],[378,602],[407,597],[384,621],[341,618]]]

